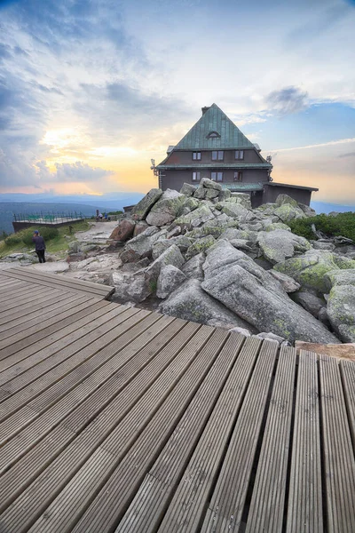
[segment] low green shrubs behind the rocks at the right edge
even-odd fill
[[[296,219],[288,222],[291,231],[296,235],[301,235],[306,239],[316,239],[312,232],[312,224],[318,231],[328,237],[342,235],[355,241],[355,213],[339,213],[335,217],[332,215],[316,215],[307,219]]]

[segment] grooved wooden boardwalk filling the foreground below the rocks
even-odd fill
[[[355,363],[0,273],[0,532],[354,533]]]

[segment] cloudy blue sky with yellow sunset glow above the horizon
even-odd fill
[[[0,192],[146,193],[213,102],[355,204],[355,0],[0,0]]]

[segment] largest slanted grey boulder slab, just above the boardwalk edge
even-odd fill
[[[312,314],[297,306],[271,274],[230,243],[219,241],[207,252],[203,290],[257,330],[271,331],[290,342],[337,339]]]

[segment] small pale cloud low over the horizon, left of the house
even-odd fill
[[[44,182],[58,183],[97,181],[113,175],[113,171],[106,171],[99,167],[91,167],[87,163],[56,163],[56,171],[51,172],[45,161],[36,163],[37,176]]]

